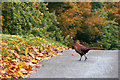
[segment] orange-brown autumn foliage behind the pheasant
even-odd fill
[[[59,21],[59,28],[63,31],[63,35],[77,36],[80,43],[86,46],[97,46],[105,49],[118,49],[119,45],[107,48],[112,41],[103,40],[102,34],[107,26],[113,27],[114,40],[118,43],[118,26],[120,26],[119,2],[64,2],[53,7],[54,3],[49,3],[50,11],[56,11]],[[52,8],[51,8],[52,7]],[[111,23],[112,22],[112,23]],[[116,26],[116,28],[115,28]],[[111,34],[108,31],[107,34]],[[69,38],[69,46],[72,47],[73,41]],[[107,42],[107,44],[105,43]],[[105,44],[106,45],[105,45]],[[113,42],[114,43],[114,42]]]

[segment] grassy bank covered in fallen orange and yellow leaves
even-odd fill
[[[40,37],[27,38],[16,35],[7,35],[1,44],[0,50],[3,54],[0,54],[2,57],[0,74],[2,78],[27,78],[33,71],[33,67],[42,66],[38,64],[39,61],[49,60],[59,55],[58,52],[67,49],[62,46],[53,46],[55,43],[48,43]]]

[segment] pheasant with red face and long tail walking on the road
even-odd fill
[[[74,40],[74,45],[73,45],[73,47],[74,47],[75,51],[76,51],[78,54],[80,54],[80,60],[79,60],[79,61],[81,61],[82,56],[85,57],[85,60],[84,60],[84,61],[86,61],[87,57],[85,56],[85,54],[86,54],[89,50],[92,50],[92,49],[102,49],[102,48],[98,48],[98,47],[90,47],[90,48],[87,48],[87,47],[79,44],[79,43],[77,42],[76,37],[72,37],[72,39]]]

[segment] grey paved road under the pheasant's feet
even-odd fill
[[[91,50],[87,57],[86,61],[78,61],[74,50],[64,52],[42,62],[45,66],[30,78],[118,78],[118,50]]]

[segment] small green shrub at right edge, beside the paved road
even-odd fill
[[[119,40],[118,40],[118,26],[114,21],[108,21],[108,25],[105,26],[101,34],[101,42],[104,43],[104,49],[119,49]]]

